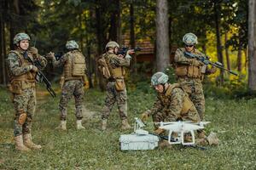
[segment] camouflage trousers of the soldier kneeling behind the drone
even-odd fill
[[[176,121],[191,121],[200,122],[200,116],[198,115],[195,106],[193,106],[188,113],[182,115],[172,115],[167,111],[158,111],[152,115],[153,122],[176,122]],[[158,124],[154,124],[155,128],[158,128]]]

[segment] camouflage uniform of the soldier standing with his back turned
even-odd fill
[[[69,75],[71,72],[70,63],[77,55],[83,55],[78,49],[74,49],[67,54],[64,54],[60,60],[53,58],[54,67],[64,66],[64,85],[61,91],[61,100],[59,109],[61,111],[61,121],[65,121],[67,117],[67,104],[68,101],[74,96],[75,99],[75,115],[77,120],[82,120],[82,102],[84,100],[84,76],[85,76],[85,61],[84,61],[84,76],[73,77]],[[84,55],[83,55],[84,56]],[[70,61],[70,62],[69,62]],[[69,69],[69,71],[67,71]]]

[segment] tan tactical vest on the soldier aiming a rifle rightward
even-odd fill
[[[115,56],[115,54],[108,54],[105,56],[111,77],[113,77],[114,79],[123,78],[123,77],[125,77],[125,68],[123,66],[113,68],[113,66],[110,65],[110,59],[113,58],[114,56]]]

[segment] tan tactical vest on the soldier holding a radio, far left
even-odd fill
[[[32,63],[24,59],[23,55],[20,54],[19,50],[12,50],[9,52],[9,54],[10,53],[15,53],[19,57],[20,66],[32,65]],[[30,57],[33,60],[32,54],[28,53],[28,57]],[[13,94],[22,94],[23,90],[26,88],[35,88],[36,87],[35,77],[36,77],[36,73],[32,71],[27,71],[26,73],[20,76],[15,76],[9,73],[9,84],[8,84],[9,91]]]

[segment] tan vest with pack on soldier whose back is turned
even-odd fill
[[[78,50],[67,53],[67,62],[64,65],[64,77],[66,80],[81,79],[85,76],[85,58]]]

